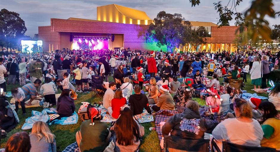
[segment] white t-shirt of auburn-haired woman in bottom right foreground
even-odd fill
[[[264,132],[259,122],[255,119],[252,120],[252,122],[246,123],[236,118],[228,118],[219,123],[212,132],[219,148],[222,149],[222,141],[260,147]]]

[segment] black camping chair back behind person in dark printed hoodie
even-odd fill
[[[210,140],[183,139],[176,136],[164,135],[164,152],[205,151],[209,152]]]

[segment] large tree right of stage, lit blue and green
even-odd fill
[[[148,42],[155,42],[158,47],[166,45],[168,52],[180,44],[185,45],[183,35],[187,32],[185,25],[188,23],[184,19],[181,14],[159,12],[147,29],[146,39]]]

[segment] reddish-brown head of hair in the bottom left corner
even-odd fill
[[[30,138],[26,132],[17,132],[7,141],[5,152],[30,152]]]

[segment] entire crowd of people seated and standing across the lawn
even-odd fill
[[[90,118],[81,123],[76,133],[80,151],[106,151],[112,144],[115,145],[113,151],[139,151],[145,131],[133,118],[143,113],[143,109],[149,114],[160,110],[179,112],[162,126],[163,135],[200,139],[205,133],[211,133],[220,149],[226,141],[280,150],[280,76],[271,78],[270,74],[279,71],[279,66],[280,52],[269,50],[165,53],[130,48],[67,49],[55,53],[3,55],[0,58],[1,129],[10,131],[16,123],[10,119],[15,116],[7,114],[10,111],[5,97],[7,85],[21,85],[11,89],[16,113],[21,105],[25,116],[25,106],[44,98],[43,107],[55,107],[59,115],[56,119],[61,119],[78,109],[73,92],[88,93],[92,76],[98,76],[104,87],[103,108],[116,121],[108,128],[100,121],[101,109],[91,108]],[[270,90],[267,101],[245,100],[240,96],[240,86],[230,83],[239,79],[246,85],[248,74],[254,86],[252,90]],[[109,82],[111,76],[114,81]],[[224,82],[220,83],[220,79]],[[62,93],[56,99],[59,89]],[[208,110],[200,113],[194,97],[205,100]],[[211,121],[215,115],[219,123]],[[30,135],[19,132],[7,141],[7,152],[18,150],[55,152],[55,136],[46,123],[37,121]]]

